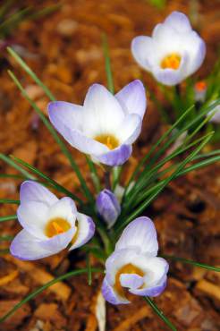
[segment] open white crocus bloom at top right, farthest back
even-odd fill
[[[206,46],[183,13],[173,12],[157,24],[152,37],[132,40],[135,60],[157,81],[176,85],[199,69],[206,55]]]

